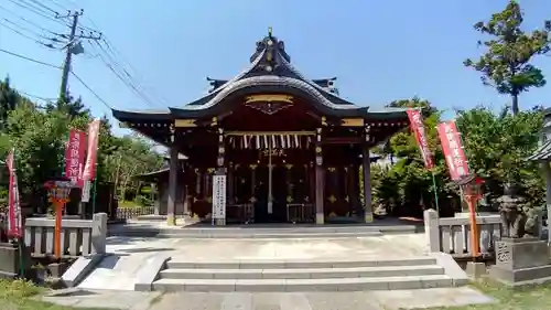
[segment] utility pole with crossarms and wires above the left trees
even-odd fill
[[[68,43],[65,46],[65,62],[63,63],[63,74],[62,74],[62,85],[60,87],[60,101],[65,101],[68,98],[67,94],[67,84],[68,84],[68,75],[71,73],[71,64],[73,61],[73,54],[78,55],[84,52],[83,45],[78,40],[87,39],[87,40],[101,40],[101,33],[95,35],[90,32],[89,35],[84,35],[83,32],[80,34],[76,34],[76,29],[78,26],[78,18],[84,14],[84,10],[80,11],[68,11],[66,15],[57,15],[57,19],[73,19],[71,24],[71,33],[68,35],[64,35]]]

